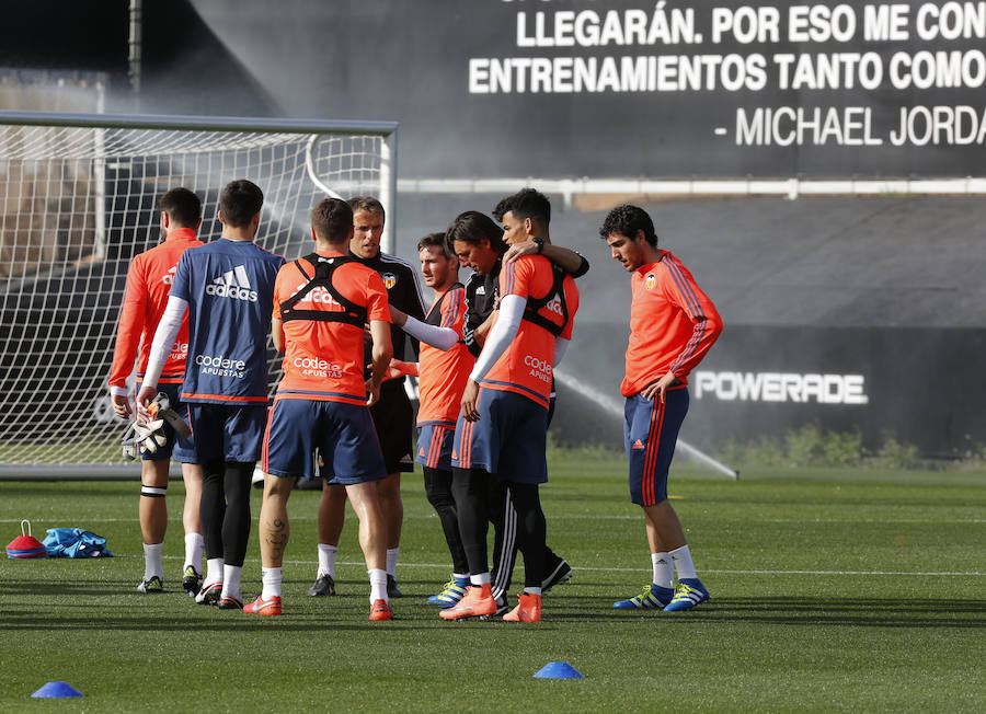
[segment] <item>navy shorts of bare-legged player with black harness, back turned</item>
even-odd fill
[[[322,465],[316,464],[320,458]],[[264,473],[351,485],[387,475],[369,408],[363,404],[282,399],[264,436]]]

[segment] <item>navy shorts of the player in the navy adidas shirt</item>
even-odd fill
[[[192,440],[199,463],[207,461],[257,461],[267,424],[266,406],[237,404],[188,404]]]

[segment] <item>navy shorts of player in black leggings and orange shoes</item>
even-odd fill
[[[480,388],[479,422],[459,415],[451,463],[460,469],[483,469],[503,481],[548,482],[548,410],[497,389]]]

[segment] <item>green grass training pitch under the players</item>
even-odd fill
[[[306,597],[316,492],[289,504],[285,615],[252,618],[181,591],[180,483],[169,591],[141,596],[136,483],[2,482],[4,544],[30,518],[41,537],[56,526],[105,536],[116,557],[0,562],[0,710],[986,710],[986,473],[763,471],[733,482],[677,470],[673,503],[713,599],[672,614],[611,608],[650,579],[624,470],[618,458],[553,458],[549,543],[575,574],[535,625],[447,623],[425,603],[449,566],[417,475],[403,482],[408,597],[389,623],[367,621],[352,513],[340,595]],[[245,598],[260,591],[260,498]],[[585,679],[534,679],[550,661]],[[84,696],[31,699],[51,680]]]

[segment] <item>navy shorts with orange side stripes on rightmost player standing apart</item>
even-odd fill
[[[688,389],[665,392],[664,404],[655,396],[628,396],[623,405],[623,441],[630,461],[630,500],[656,506],[667,500],[667,470],[675,456],[678,430],[688,413]]]

